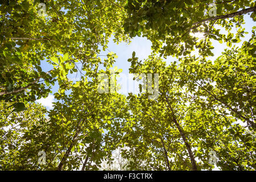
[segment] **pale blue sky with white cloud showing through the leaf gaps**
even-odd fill
[[[252,27],[255,26],[255,23],[251,20],[249,15],[245,15],[244,18],[246,23],[243,24],[243,27],[245,27],[245,30],[249,32],[249,34],[245,35],[245,38],[242,39],[243,41],[249,40],[251,38],[251,30],[252,30]],[[221,30],[221,31],[224,31],[224,30]],[[233,33],[234,34],[236,33],[236,28],[233,28]],[[202,35],[197,34],[196,36],[201,37]],[[242,42],[238,44],[241,45]],[[102,51],[100,55],[107,55],[109,51],[116,53],[118,58],[115,59],[116,62],[114,63],[113,67],[118,67],[118,69],[122,69],[123,70],[122,73],[127,75],[129,73],[129,68],[130,68],[130,62],[128,62],[127,59],[131,58],[133,51],[136,52],[136,57],[139,57],[139,60],[147,59],[147,56],[150,55],[152,51],[151,46],[152,44],[150,40],[147,40],[146,38],[138,37],[138,36],[133,38],[130,44],[123,43],[123,42],[116,44],[113,42],[113,39],[110,39],[108,44],[108,50]],[[213,41],[213,47],[214,47],[213,49],[214,57],[209,57],[209,59],[211,60],[215,60],[216,57],[221,55],[221,52],[224,51],[225,48],[228,48],[226,44],[220,44],[217,41]],[[104,57],[101,57],[101,58],[104,59]],[[175,57],[168,56],[165,61],[168,64],[174,60],[176,60]],[[44,72],[47,72],[53,68],[52,65],[49,65],[46,62],[46,60],[41,61],[41,66]],[[71,76],[70,78],[74,78],[74,77]],[[128,85],[128,87],[129,86],[131,85]],[[42,104],[43,106],[46,106],[48,110],[52,109],[52,102],[55,101],[53,94],[57,92],[58,89],[59,89],[59,85],[56,82],[55,86],[52,87],[52,93],[50,93],[47,98],[40,98],[40,100],[37,100],[37,102]]]

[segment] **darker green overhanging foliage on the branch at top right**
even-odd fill
[[[213,5],[216,6],[216,17],[209,14]],[[128,14],[123,24],[126,33],[130,37],[146,36],[152,42],[152,49],[164,57],[189,55],[194,49],[199,49],[200,55],[213,56],[213,40],[226,42],[231,47],[232,43],[241,42],[245,34],[241,26],[245,13],[241,12],[234,18],[233,13],[249,9],[255,21],[254,1],[128,0],[125,8]],[[224,14],[226,16],[222,17]],[[217,25],[226,32],[222,34]],[[235,36],[233,27],[237,29]],[[196,41],[199,40],[195,36],[198,32],[204,35],[204,39]]]

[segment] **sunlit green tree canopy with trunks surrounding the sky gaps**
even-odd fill
[[[1,1],[0,169],[255,170],[256,27],[243,27],[255,10],[251,0]],[[152,52],[130,55],[141,84],[126,95],[118,54],[100,53],[135,36]],[[213,60],[214,42],[227,48]],[[47,110],[36,100],[49,93]]]

